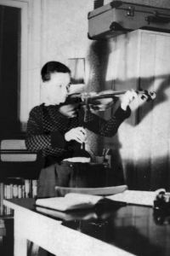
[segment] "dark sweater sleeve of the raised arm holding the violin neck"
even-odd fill
[[[130,116],[130,114],[130,108],[127,108],[127,111],[124,111],[122,108],[118,108],[116,113],[112,115],[111,119],[105,120],[99,118],[99,116],[94,113],[88,112],[87,121],[84,122],[84,127],[98,135],[113,137],[119,126]]]

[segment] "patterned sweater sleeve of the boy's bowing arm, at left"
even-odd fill
[[[26,148],[37,152],[45,148],[65,149],[66,141],[59,131],[44,134],[42,125],[42,111],[32,108],[26,127]]]

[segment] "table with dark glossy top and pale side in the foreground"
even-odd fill
[[[170,224],[156,224],[152,207],[99,210],[99,218],[61,222],[36,212],[32,199],[4,200],[14,209],[14,256],[26,256],[26,240],[62,256],[169,256]]]

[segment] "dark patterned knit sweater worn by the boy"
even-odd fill
[[[83,109],[79,111],[77,117],[67,118],[59,112],[59,106],[46,107],[41,104],[31,109],[26,130],[26,148],[31,152],[42,150],[43,156],[53,156],[57,162],[57,159],[71,157],[74,150],[81,146],[75,141],[66,142],[65,132],[83,126],[96,134],[113,137],[122,121],[129,116],[130,108],[127,108],[127,111],[118,108],[109,120],[101,119],[88,111],[84,122]]]

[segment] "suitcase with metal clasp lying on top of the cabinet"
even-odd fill
[[[112,1],[88,13],[89,39],[114,38],[137,29],[170,32],[170,9]]]

